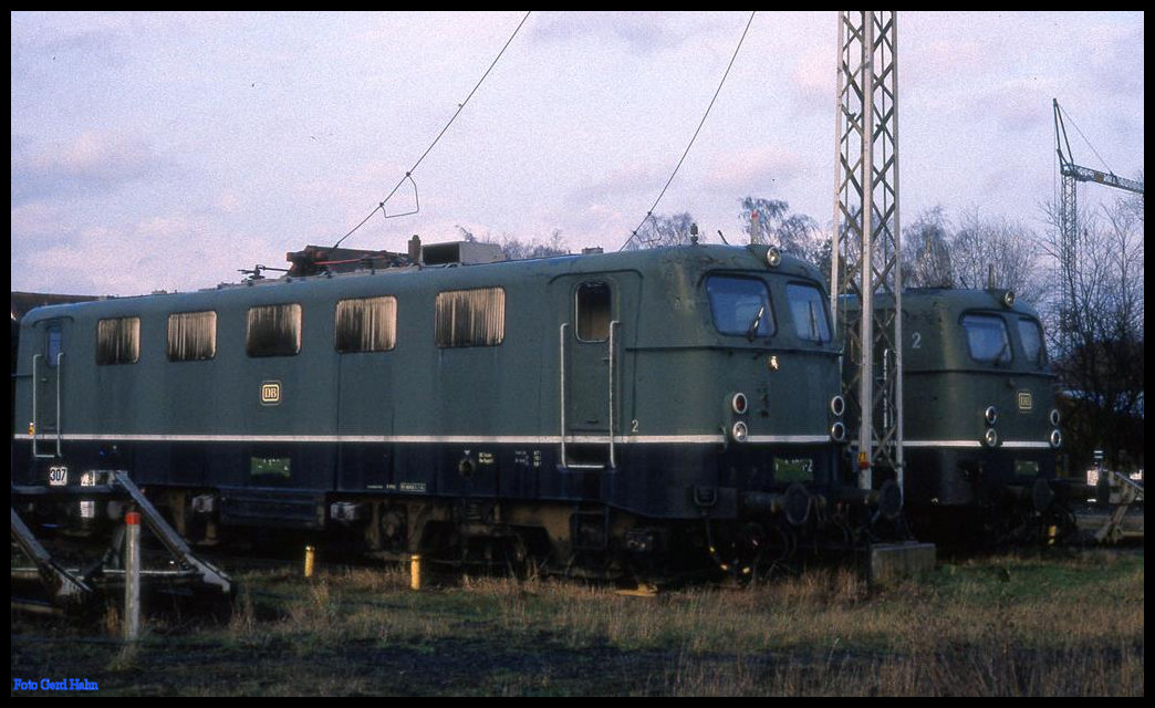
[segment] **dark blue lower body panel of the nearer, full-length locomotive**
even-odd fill
[[[519,442],[80,440],[66,441],[64,452],[33,460],[27,441],[14,442],[13,482],[45,484],[50,467],[66,467],[69,484],[83,471],[120,469],[144,487],[228,490],[238,505],[263,494],[289,517],[308,515],[300,505],[293,510],[295,499],[439,497],[596,502],[692,520],[735,517],[746,491],[799,482],[829,490],[836,448],[625,444],[616,446],[612,468],[560,465],[560,446]]]

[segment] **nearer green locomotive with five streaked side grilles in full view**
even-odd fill
[[[188,537],[344,527],[386,558],[609,574],[751,573],[862,523],[807,263],[289,255],[276,280],[29,313],[14,483],[128,470]]]

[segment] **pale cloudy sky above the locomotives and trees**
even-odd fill
[[[418,159],[416,188],[345,246],[404,251],[460,226],[617,249],[750,14],[532,13],[467,103],[524,16],[13,13],[13,290],[193,290],[283,266]],[[737,236],[753,195],[827,228],[836,31],[833,12],[758,13],[655,213]],[[1079,164],[1143,169],[1142,13],[901,13],[899,68],[904,223],[941,206],[1045,230],[1052,98]],[[1080,206],[1111,192],[1085,187]]]

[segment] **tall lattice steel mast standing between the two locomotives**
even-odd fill
[[[840,327],[845,355],[858,366],[843,382],[850,412],[859,413],[858,483],[873,469],[902,476],[902,278],[899,268],[897,17],[895,12],[839,13],[836,165],[830,259],[830,311],[843,323],[839,297],[862,304],[857,321]],[[879,310],[873,296],[889,295]]]

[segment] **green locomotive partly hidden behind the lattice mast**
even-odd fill
[[[857,300],[843,300],[845,316],[859,316]],[[894,298],[875,296],[874,307],[893,312]],[[1079,485],[1056,474],[1056,375],[1035,310],[1008,290],[908,289],[902,311],[903,505],[915,535],[955,545],[1070,526]],[[847,366],[855,360],[848,352]],[[893,371],[894,352],[875,360],[877,377]],[[856,417],[848,411],[851,433]]]

